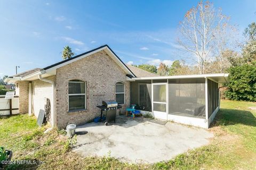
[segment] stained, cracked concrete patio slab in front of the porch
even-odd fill
[[[111,156],[123,162],[155,163],[207,145],[213,134],[205,129],[148,118],[118,116],[116,123],[77,126],[75,152],[83,156]]]

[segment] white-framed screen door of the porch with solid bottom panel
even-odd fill
[[[167,83],[153,83],[153,113],[156,118],[167,120]]]

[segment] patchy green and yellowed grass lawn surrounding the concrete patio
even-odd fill
[[[127,164],[106,156],[81,157],[71,151],[69,140],[57,129],[43,133],[35,117],[0,118],[0,146],[13,151],[15,160],[41,160],[42,165],[9,165],[6,169],[256,169],[255,103],[221,101],[221,110],[209,131],[210,145],[156,164]],[[178,147],[178,146],[177,146]]]

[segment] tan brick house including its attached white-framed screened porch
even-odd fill
[[[228,74],[159,77],[124,64],[104,45],[5,81],[16,84],[19,113],[38,116],[49,99],[50,121],[58,128],[93,120],[102,100],[116,100],[121,113],[132,103],[156,118],[208,128],[219,111],[218,83]]]

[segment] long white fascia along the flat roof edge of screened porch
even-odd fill
[[[216,73],[216,74],[189,74],[189,75],[169,75],[169,76],[157,76],[157,77],[141,77],[132,78],[131,80],[159,80],[159,79],[187,79],[187,78],[211,78],[211,77],[228,77],[228,73]]]

